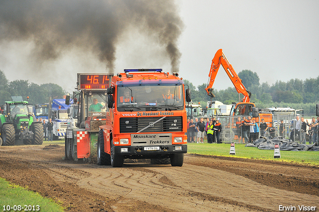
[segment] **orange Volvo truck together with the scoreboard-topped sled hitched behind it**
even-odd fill
[[[189,102],[190,95],[178,73],[125,69],[116,76],[78,74],[78,90],[79,128],[67,129],[65,158],[96,156],[98,165],[113,167],[122,167],[126,158],[169,158],[171,166],[182,166],[185,99]]]

